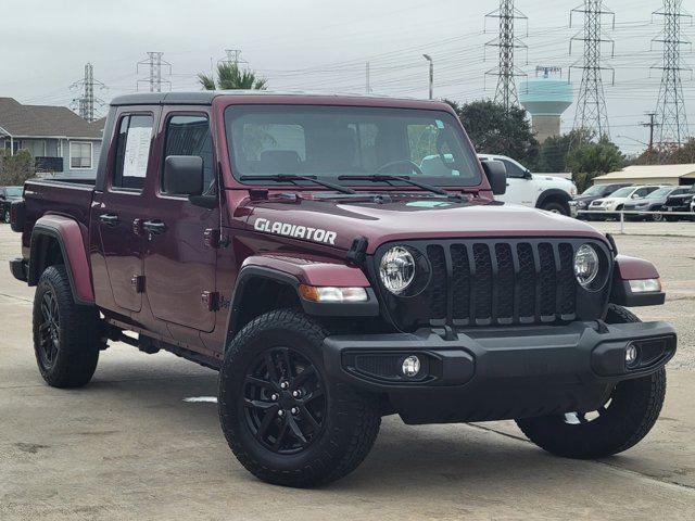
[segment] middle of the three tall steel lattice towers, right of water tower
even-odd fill
[[[571,68],[582,69],[582,81],[577,97],[577,113],[574,114],[574,128],[584,128],[595,132],[595,138],[610,137],[608,125],[608,112],[604,97],[603,71],[612,73],[611,84],[616,82],[616,72],[612,67],[605,66],[601,62],[601,49],[603,43],[610,43],[610,55],[615,53],[615,42],[604,35],[602,20],[604,15],[612,17],[612,28],[616,27],[616,15],[604,8],[603,0],[584,0],[584,3],[570,11],[569,25],[572,26],[572,15],[581,13],[584,16],[584,28],[574,35],[569,43],[569,53],[572,53],[572,41],[584,42],[584,56]],[[571,79],[571,78],[570,78]]]

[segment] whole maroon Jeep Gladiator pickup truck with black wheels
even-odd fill
[[[354,470],[392,414],[626,450],[677,346],[627,309],[664,303],[659,275],[505,186],[445,103],[116,98],[93,183],[30,180],[12,207],[38,368],[85,385],[110,341],[214,368],[231,450],[289,486]]]

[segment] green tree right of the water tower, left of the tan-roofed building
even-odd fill
[[[621,169],[626,158],[620,149],[604,137],[597,143],[585,142],[574,147],[567,154],[566,162],[577,189],[583,192],[594,177]]]

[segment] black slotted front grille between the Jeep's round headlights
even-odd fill
[[[610,257],[599,241],[572,238],[408,242],[407,247],[427,258],[429,283],[416,294],[392,295],[384,290],[382,296],[403,329],[595,319],[602,316],[608,290],[606,285],[587,292],[577,283],[574,252],[585,242]],[[389,246],[379,249],[377,265]],[[605,269],[611,269],[610,264]]]

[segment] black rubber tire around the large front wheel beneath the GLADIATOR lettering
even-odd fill
[[[327,378],[323,343],[328,331],[295,309],[279,309],[248,323],[229,343],[219,372],[219,420],[237,459],[258,479],[277,485],[311,487],[343,478],[369,454],[381,423],[379,403]],[[325,427],[299,454],[281,455],[251,432],[241,403],[243,382],[258,354],[274,346],[301,353],[319,372],[326,393]]]

